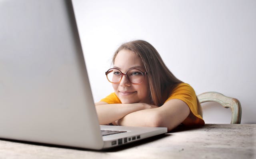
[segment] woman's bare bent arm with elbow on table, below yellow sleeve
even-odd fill
[[[189,114],[190,109],[184,101],[171,99],[161,107],[130,113],[119,119],[118,125],[167,127],[170,131],[182,123]]]

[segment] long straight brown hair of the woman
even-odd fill
[[[113,64],[116,55],[123,49],[134,52],[142,59],[142,63],[148,73],[152,104],[157,106],[163,105],[176,85],[183,83],[170,72],[158,51],[150,43],[144,40],[134,40],[122,44],[113,56]],[[198,111],[200,112],[200,103],[198,102],[198,104]]]

